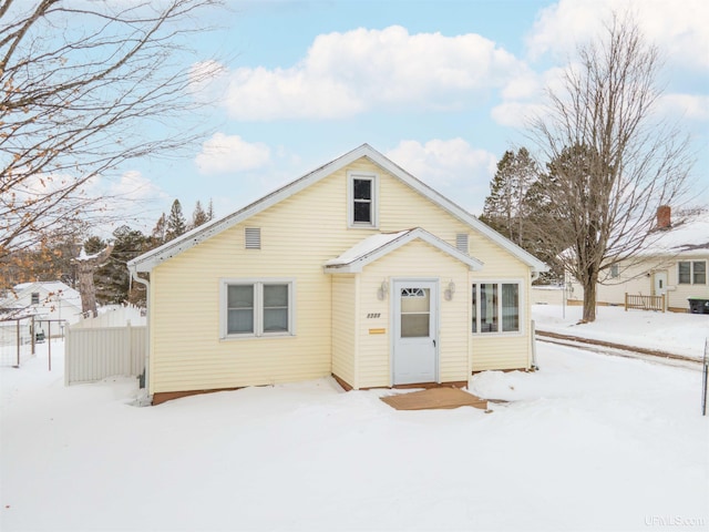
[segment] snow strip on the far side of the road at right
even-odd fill
[[[577,325],[582,307],[533,305],[537,330],[561,332],[628,346],[659,349],[701,359],[709,338],[709,315],[597,307],[596,321]]]

